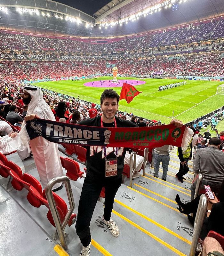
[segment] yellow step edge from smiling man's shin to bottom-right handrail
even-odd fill
[[[148,218],[147,216],[145,216],[144,214],[132,209],[131,207],[129,207],[128,205],[118,201],[117,199],[114,199],[114,202],[116,202],[117,204],[120,204],[121,206],[123,206],[124,208],[128,209],[129,211],[137,214],[138,216],[142,217],[145,220],[148,220],[149,222],[151,222],[152,224],[154,224],[155,226],[157,226],[158,228],[163,229],[164,231],[166,231],[167,233],[179,238],[180,240],[182,240],[183,242],[187,243],[187,244],[191,244],[191,241],[189,241],[188,239],[178,235],[177,233],[173,232],[172,230],[170,230],[169,228],[164,227],[163,225],[159,224],[158,222],[156,222],[155,220],[152,220],[150,218]]]

